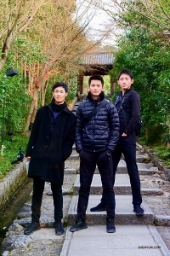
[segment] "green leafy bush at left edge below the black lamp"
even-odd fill
[[[28,113],[28,103],[30,96],[26,85],[22,84],[19,75],[6,77],[4,75],[6,67],[0,73],[0,120],[3,119],[3,108],[5,108],[5,131],[23,131],[26,115]],[[2,122],[0,124],[2,127]]]

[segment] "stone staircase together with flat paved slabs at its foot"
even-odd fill
[[[143,154],[139,147],[137,149],[137,165],[141,180],[144,215],[136,216],[133,212],[131,186],[127,167],[122,157],[117,167],[114,187],[116,194],[116,233],[108,234],[105,232],[106,212],[90,212],[90,208],[99,204],[101,199],[102,184],[98,167],[94,172],[86,212],[88,229],[71,233],[70,226],[75,223],[77,218],[78,189],[80,186],[79,170],[77,169],[77,177],[72,187],[73,196],[67,217],[69,226],[60,256],[170,256],[170,247],[167,246],[170,216],[157,216],[150,209],[154,200],[157,201],[160,198],[158,201],[163,201],[165,196],[165,189],[161,189],[162,186],[157,185],[163,183],[160,177],[156,180],[157,173],[160,171],[151,163],[147,154]],[[78,155],[75,148],[70,159],[75,159],[78,163]],[[68,169],[67,172],[73,172],[73,170]],[[145,202],[147,198],[149,199],[148,201],[151,201],[150,204]],[[162,229],[158,229],[161,231],[163,240],[156,230],[156,225],[163,225]],[[165,228],[166,233],[163,233],[162,230]],[[164,241],[166,241],[166,244]]]

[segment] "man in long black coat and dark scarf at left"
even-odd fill
[[[31,224],[24,234],[40,229],[42,194],[45,182],[51,183],[54,198],[55,234],[64,233],[62,184],[65,160],[71,155],[75,139],[76,117],[67,108],[68,87],[62,82],[53,86],[53,100],[37,110],[31,137],[26,148],[30,160],[28,177],[33,178]]]

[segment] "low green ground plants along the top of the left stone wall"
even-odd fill
[[[3,155],[0,154],[0,179],[5,177],[14,167],[11,162],[16,160],[16,155],[19,154],[19,149],[22,148],[23,151],[26,152],[28,139],[28,137],[20,137],[19,135],[14,136],[12,141],[5,139]]]

